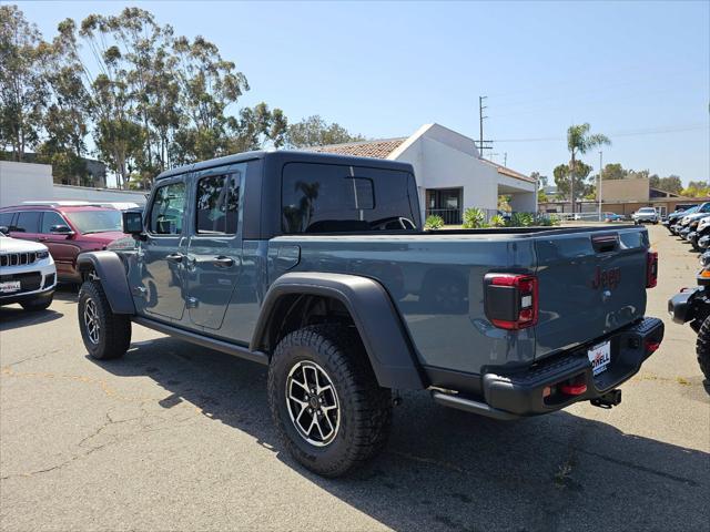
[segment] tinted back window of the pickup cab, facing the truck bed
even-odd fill
[[[283,170],[286,234],[415,229],[416,205],[408,172],[312,163]]]

